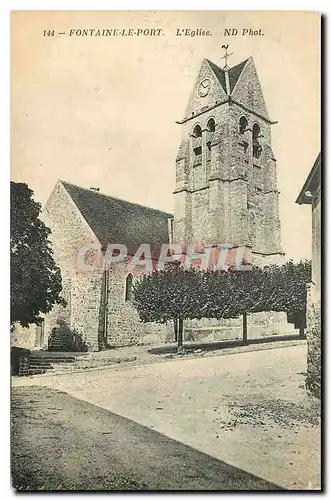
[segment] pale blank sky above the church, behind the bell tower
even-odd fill
[[[253,57],[277,121],[272,147],[283,249],[287,258],[311,257],[311,207],[295,200],[320,151],[318,14],[20,11],[11,24],[11,177],[28,183],[37,201],[44,205],[62,179],[173,212],[181,132],[175,122],[202,59],[222,64],[221,46],[229,44],[230,66]],[[115,28],[162,33],[69,36]],[[211,35],[176,36],[184,29]],[[244,36],[243,29],[263,35]]]

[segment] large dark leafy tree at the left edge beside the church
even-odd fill
[[[41,205],[27,184],[10,183],[11,325],[38,323],[54,304],[65,305],[60,269],[48,239],[51,230],[39,219]]]

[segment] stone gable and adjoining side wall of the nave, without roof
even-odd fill
[[[54,258],[61,269],[65,308],[54,306],[45,317],[45,345],[58,319],[80,333],[89,351],[106,345],[160,343],[171,338],[171,327],[141,323],[132,302],[125,301],[128,262],[112,264],[107,273],[97,250],[79,251],[98,241],[59,182],[50,196],[43,220],[52,230]],[[82,268],[81,264],[85,267]]]

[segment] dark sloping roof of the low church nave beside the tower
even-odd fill
[[[61,182],[103,247],[120,243],[132,255],[143,243],[150,244],[152,251],[169,243],[172,214]]]

